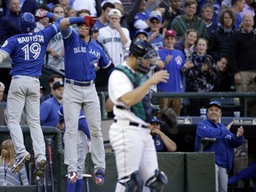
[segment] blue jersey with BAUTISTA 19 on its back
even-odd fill
[[[28,34],[19,34],[8,38],[2,50],[12,58],[11,76],[41,76],[44,56],[49,41],[60,31],[60,25]]]

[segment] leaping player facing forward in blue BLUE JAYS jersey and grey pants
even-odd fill
[[[102,185],[105,179],[106,163],[100,128],[100,100],[94,79],[96,68],[106,69],[110,73],[114,64],[108,59],[102,47],[90,36],[95,20],[88,20],[85,24],[80,23],[77,33],[72,28],[68,28],[69,21],[66,23],[67,28],[61,31],[65,47],[65,86],[62,101],[66,123],[64,162],[68,164],[68,181],[75,182],[77,124],[80,110],[83,108],[91,132],[95,182]]]

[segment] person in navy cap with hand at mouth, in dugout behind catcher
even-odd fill
[[[176,151],[177,146],[176,143],[173,142],[169,137],[167,137],[164,132],[161,131],[161,124],[162,121],[154,116],[150,120],[150,130],[152,134],[152,138],[155,143],[156,151],[157,152],[173,152]]]

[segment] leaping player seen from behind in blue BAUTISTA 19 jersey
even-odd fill
[[[36,17],[57,19],[58,15],[51,12],[36,12]],[[85,18],[75,18],[71,24],[85,22]],[[64,19],[65,20],[69,19]],[[87,17],[91,20],[91,17]],[[60,20],[59,20],[60,21]],[[23,134],[20,128],[20,116],[24,108],[27,113],[28,126],[33,140],[33,149],[36,158],[36,176],[44,175],[45,144],[44,135],[39,121],[40,82],[38,77],[42,75],[41,68],[44,64],[44,56],[47,44],[52,36],[60,31],[60,22],[55,22],[49,28],[39,32],[33,32],[36,28],[35,17],[25,12],[20,20],[23,34],[8,38],[0,50],[0,63],[8,56],[12,58],[12,82],[8,92],[8,128],[15,148],[15,163],[12,172],[19,172],[22,165],[29,160],[30,154],[24,146]]]

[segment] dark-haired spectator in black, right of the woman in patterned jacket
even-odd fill
[[[215,70],[217,77],[212,92],[234,92],[234,77],[228,71],[228,59],[220,58],[213,70]]]

